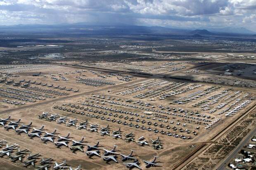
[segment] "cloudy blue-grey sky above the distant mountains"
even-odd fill
[[[0,0],[0,25],[57,23],[256,30],[256,0]]]

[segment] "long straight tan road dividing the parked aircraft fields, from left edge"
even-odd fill
[[[139,80],[136,80],[136,81],[132,81],[132,82],[124,83],[124,84],[119,84],[119,85],[116,85],[116,86],[110,86],[110,87],[108,86],[108,87],[105,87],[105,88],[100,88],[100,89],[88,91],[88,92],[85,92],[85,93],[78,93],[78,94],[75,94],[75,95],[68,95],[68,96],[65,96],[65,97],[62,97],[62,98],[57,98],[57,99],[54,99],[54,100],[47,100],[45,102],[35,103],[35,104],[32,104],[32,105],[26,105],[26,106],[22,106],[22,107],[13,108],[13,109],[7,109],[7,110],[4,110],[4,111],[1,111],[0,114],[8,113],[8,112],[14,112],[14,111],[17,111],[17,110],[20,110],[20,109],[26,109],[26,108],[30,108],[30,107],[37,107],[37,106],[40,106],[40,105],[46,105],[46,104],[49,104],[49,103],[52,103],[52,102],[57,102],[57,101],[60,101],[60,100],[75,98],[75,97],[78,97],[78,96],[81,96],[81,95],[88,95],[88,94],[91,94],[91,93],[98,93],[100,91],[110,90],[110,89],[113,89],[113,88],[119,88],[119,87],[123,87],[123,86],[126,87],[129,84],[141,82],[143,80],[145,80],[145,79],[139,79]]]

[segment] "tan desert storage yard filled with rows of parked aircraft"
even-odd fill
[[[157,77],[193,70],[193,64],[2,65],[4,169],[169,170],[186,161],[192,162],[185,169],[204,169],[190,155],[223,141],[223,130],[250,116],[255,90]],[[107,70],[113,68],[152,77]],[[206,149],[201,154],[211,153]],[[217,165],[213,161],[207,166]]]

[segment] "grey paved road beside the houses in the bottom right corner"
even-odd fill
[[[247,134],[247,136],[244,138],[244,140],[242,140],[242,142],[240,142],[237,145],[237,147],[230,152],[228,157],[225,158],[224,161],[220,165],[218,165],[216,170],[228,170],[228,168],[226,168],[226,166],[228,165],[228,163],[230,163],[230,160],[232,158],[235,158],[237,153],[244,147],[244,145],[247,144],[247,142],[249,142],[249,140],[255,135],[255,133],[256,133],[256,128],[254,128],[253,130],[251,130],[249,132],[249,134]]]

